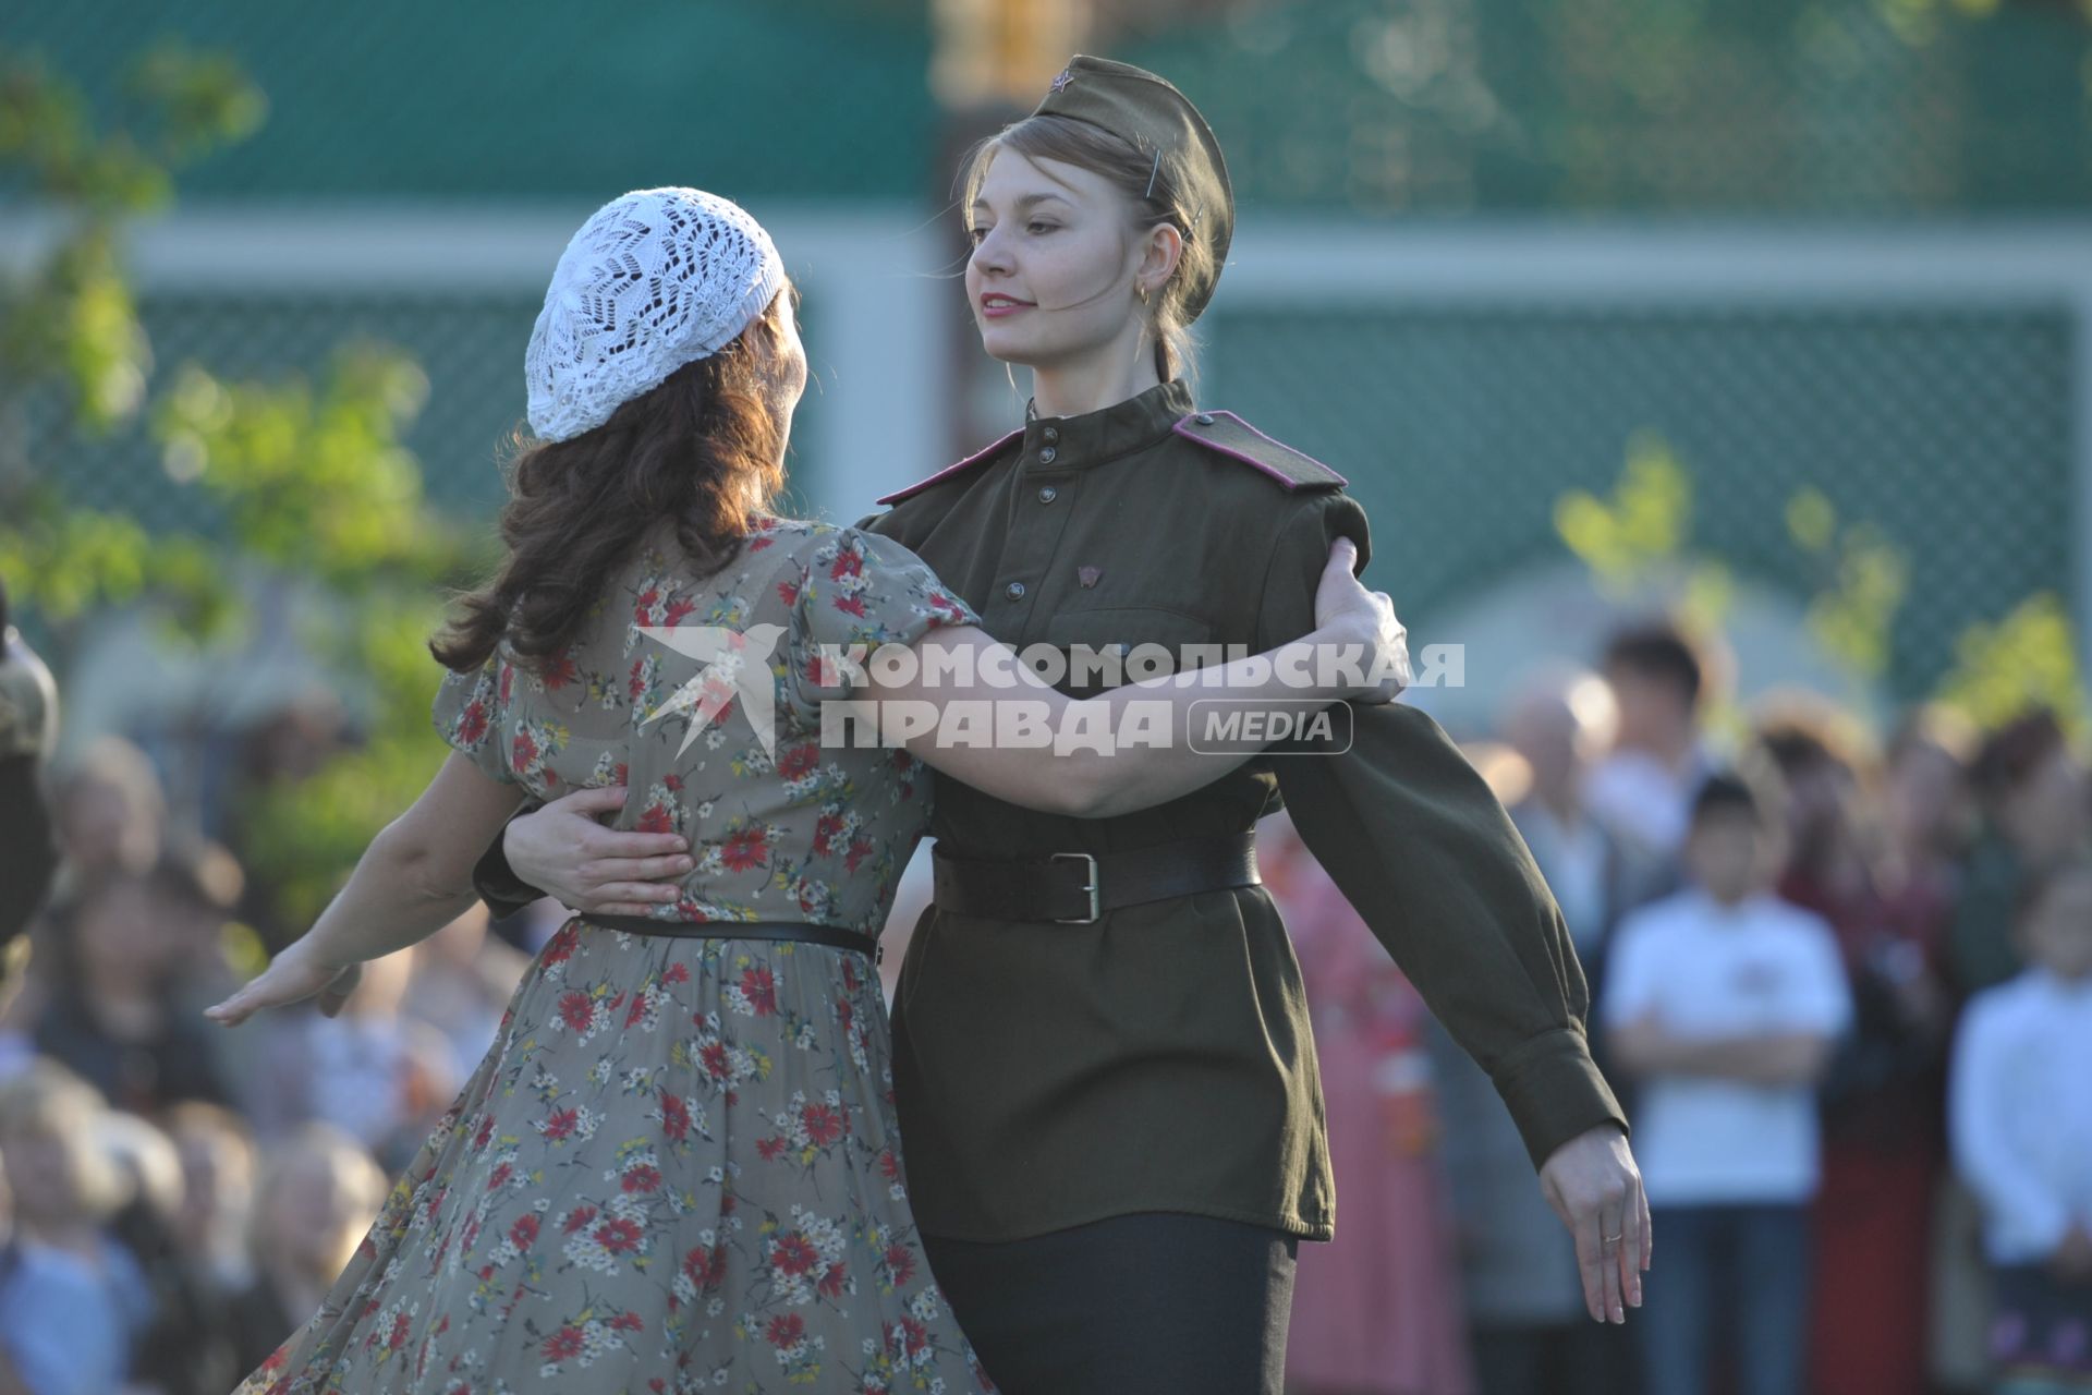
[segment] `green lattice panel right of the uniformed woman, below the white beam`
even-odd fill
[[[1607,494],[1661,433],[1692,477],[1692,548],[1807,598],[1787,502],[1816,487],[1910,561],[1885,673],[2071,586],[2071,320],[2044,310],[1215,307],[1205,402],[1331,462],[1431,609],[1565,556],[1554,502]]]

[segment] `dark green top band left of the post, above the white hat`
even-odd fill
[[[270,100],[253,140],[184,174],[205,199],[893,199],[937,121],[902,0],[75,0],[0,25],[103,111],[163,38],[234,54]]]

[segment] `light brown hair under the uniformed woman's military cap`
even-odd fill
[[[1199,220],[1178,188],[1174,161],[1142,155],[1134,142],[1102,125],[1059,117],[1052,113],[1025,117],[967,151],[960,165],[967,226],[973,226],[973,201],[981,195],[996,151],[1017,151],[1025,159],[1056,159],[1090,174],[1105,176],[1134,205],[1134,226],[1146,232],[1169,224],[1184,238],[1176,270],[1149,305],[1149,330],[1155,335],[1155,374],[1169,383],[1192,372],[1192,337],[1186,301],[1190,287],[1213,276],[1213,249],[1199,236]]]

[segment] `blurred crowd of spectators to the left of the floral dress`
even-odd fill
[[[203,1008],[266,962],[268,889],[123,738],[48,791],[56,885],[0,1010],[0,1395],[224,1395],[318,1309],[529,952],[479,910],[335,1019],[228,1031]]]

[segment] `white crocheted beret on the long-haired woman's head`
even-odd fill
[[[697,188],[611,199],[567,243],[523,351],[529,427],[565,441],[730,345],[784,287],[749,213]]]

